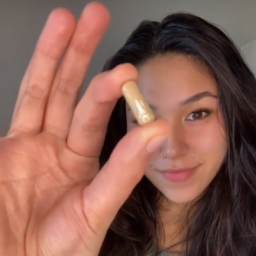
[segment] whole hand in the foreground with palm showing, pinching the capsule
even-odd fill
[[[108,21],[106,8],[91,3],[77,24],[62,8],[45,24],[0,140],[0,255],[98,255],[147,157],[168,133],[163,120],[134,129],[99,172],[109,116],[122,84],[137,77],[129,64],[103,72],[76,104]]]

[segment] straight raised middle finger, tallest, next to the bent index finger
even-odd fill
[[[45,131],[67,137],[84,74],[108,22],[108,10],[102,4],[90,3],[84,8],[54,80],[45,113]]]

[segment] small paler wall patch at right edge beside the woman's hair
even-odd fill
[[[256,76],[256,40],[243,45],[241,47],[241,53]]]

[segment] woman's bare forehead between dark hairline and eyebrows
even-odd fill
[[[216,82],[207,67],[177,54],[156,57],[138,67],[138,86],[145,99],[157,105],[176,104],[205,91],[217,94]]]

